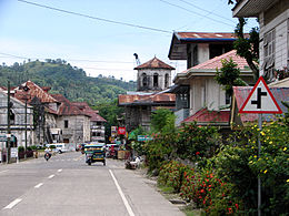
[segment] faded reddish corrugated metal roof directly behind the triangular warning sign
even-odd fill
[[[248,97],[249,93],[253,86],[233,86],[233,96],[237,102],[238,111],[241,109],[242,104],[245,103],[246,99]],[[269,88],[272,95],[276,99],[276,102],[282,110],[282,112],[288,112],[287,107],[281,103],[289,102],[289,88]],[[271,121],[275,119],[273,114],[262,114],[265,121]],[[257,121],[258,114],[252,113],[240,113],[241,121],[245,122],[253,122]]]

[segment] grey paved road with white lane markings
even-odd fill
[[[88,166],[79,152],[0,165],[0,215],[179,216],[123,162]]]

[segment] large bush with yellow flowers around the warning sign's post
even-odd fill
[[[289,212],[289,130],[285,119],[263,124],[260,131],[261,155],[258,157],[257,125],[236,132],[230,145],[212,160],[218,175],[233,185],[235,197],[243,200],[247,214],[257,214],[258,176],[261,178],[262,213]]]

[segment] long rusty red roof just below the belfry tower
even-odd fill
[[[150,95],[130,95],[120,94],[119,105],[127,104],[159,104],[159,103],[176,103],[176,94],[156,93]]]

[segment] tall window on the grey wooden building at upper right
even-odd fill
[[[275,29],[263,35],[263,76],[269,81],[275,81]]]

